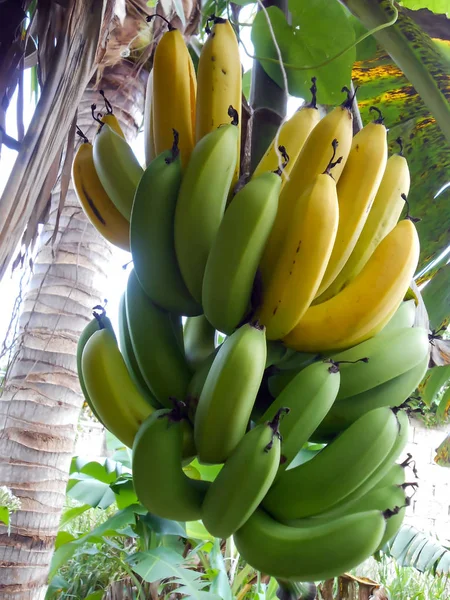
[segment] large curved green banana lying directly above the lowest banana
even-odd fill
[[[309,517],[332,508],[380,466],[398,432],[397,418],[389,408],[366,413],[311,460],[282,473],[263,507],[279,520]]]

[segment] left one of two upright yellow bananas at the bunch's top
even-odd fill
[[[196,79],[192,59],[178,29],[169,25],[153,60],[153,133],[156,156],[169,150],[179,133],[185,167],[194,147]]]

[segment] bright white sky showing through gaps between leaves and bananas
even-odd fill
[[[243,7],[241,12],[240,19],[241,21],[245,21],[249,15],[252,7]],[[243,27],[241,29],[241,38],[244,41],[245,47],[249,53],[253,52],[253,45],[250,40],[250,28]],[[247,56],[243,48],[241,47],[241,60],[244,67],[244,71],[247,71],[252,66],[252,59]],[[34,98],[31,93],[30,86],[30,71],[25,72],[24,77],[24,125],[25,129],[28,127],[29,122],[32,118],[34,111]],[[16,127],[16,100],[17,95],[14,95],[9,109],[6,115],[6,131],[7,133],[17,138],[17,127]],[[288,102],[288,115],[293,114],[293,112],[298,108],[298,106],[302,103],[302,100],[298,98],[290,98]],[[144,164],[144,137],[143,134],[139,134],[134,142],[131,144],[133,150],[138,157],[141,164]],[[1,157],[0,157],[0,195],[2,194],[4,187],[6,185],[9,173],[14,165],[14,161],[17,153],[6,146],[2,146],[1,148]],[[118,306],[120,301],[120,296],[125,289],[126,281],[128,277],[129,270],[123,269],[123,265],[129,262],[131,256],[128,252],[120,250],[118,248],[113,248],[113,258],[110,263],[110,270],[108,274],[107,285],[104,289],[103,297],[108,300],[107,304],[107,313],[110,319],[112,320],[114,326],[117,325],[117,314],[118,314]],[[19,250],[19,249],[18,249]],[[14,256],[16,256],[15,253]],[[13,306],[15,299],[19,290],[19,282],[20,278],[23,275],[23,271],[20,269],[16,269],[14,273],[11,273],[11,270],[5,275],[3,280],[0,282],[0,297],[2,298],[2,310],[0,311],[0,347],[1,343],[6,334],[6,330],[8,324],[10,322]],[[1,361],[3,364],[4,361]]]

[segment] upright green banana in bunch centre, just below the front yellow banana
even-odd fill
[[[244,436],[265,362],[265,330],[257,324],[242,325],[221,345],[195,413],[200,461],[224,462]]]

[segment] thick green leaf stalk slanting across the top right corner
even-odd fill
[[[392,0],[342,1],[368,29],[391,20],[395,11]],[[445,67],[430,38],[404,13],[401,6],[398,7],[395,25],[379,30],[374,36],[420,94],[450,142],[450,106],[439,89],[437,79]]]

